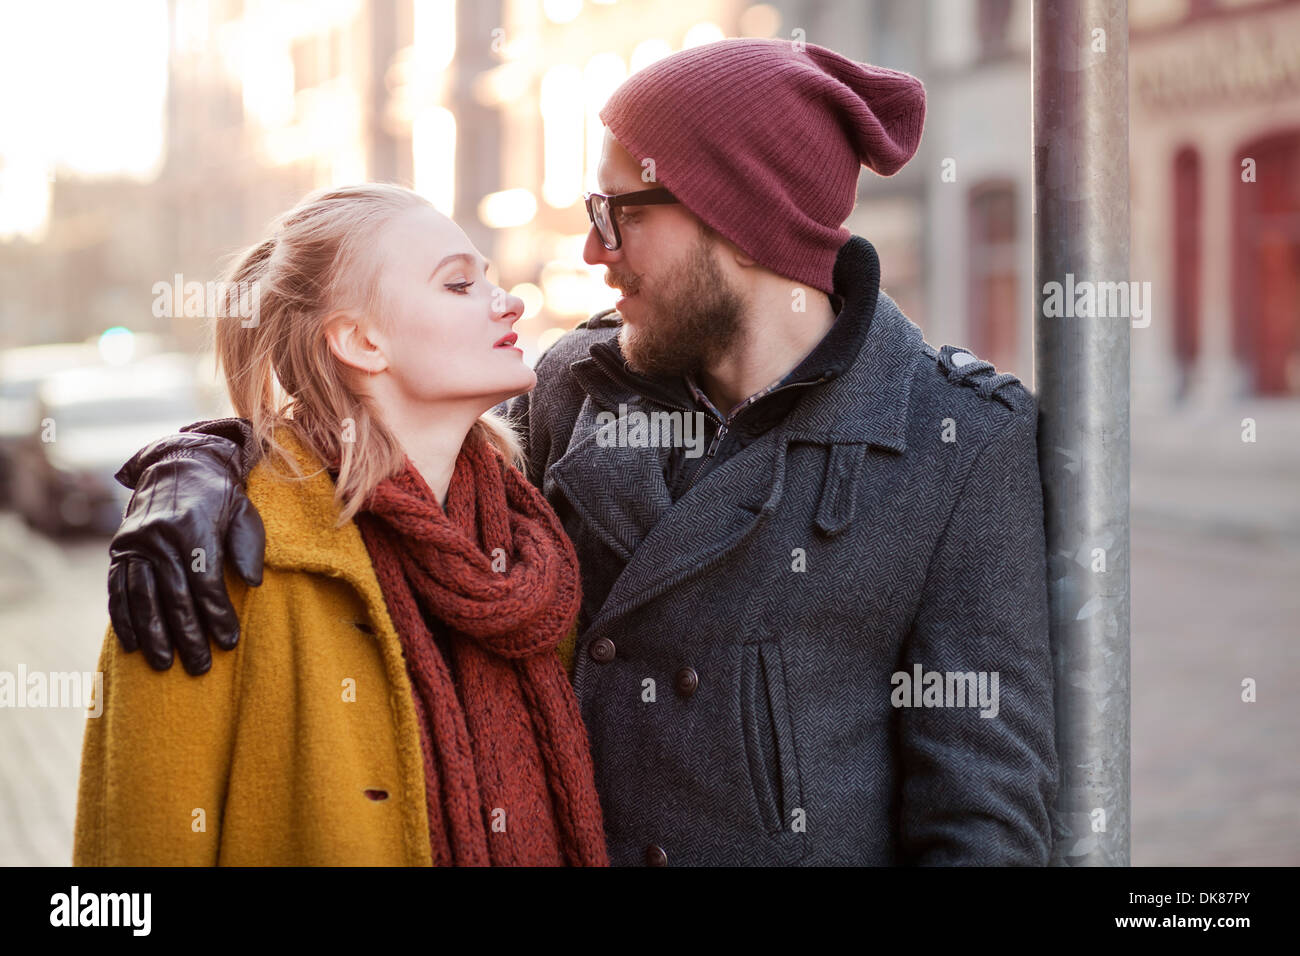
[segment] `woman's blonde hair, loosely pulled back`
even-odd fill
[[[317,190],[238,255],[221,286],[213,342],[235,414],[252,423],[263,450],[299,479],[312,476],[276,442],[276,429],[290,429],[326,466],[338,466],[338,525],[402,470],[406,451],[374,401],[352,386],[355,369],[330,350],[325,320],[338,308],[358,307],[382,321],[381,267],[365,251],[385,222],[417,206],[429,203],[387,183]],[[250,302],[255,319],[242,321]],[[519,437],[504,418],[485,412],[467,441],[474,432],[521,467]]]

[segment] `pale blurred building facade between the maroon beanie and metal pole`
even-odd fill
[[[927,51],[926,336],[1028,382],[1030,0],[933,0]]]

